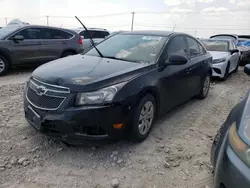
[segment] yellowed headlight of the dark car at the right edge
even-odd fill
[[[229,143],[241,160],[250,166],[250,147],[238,135],[235,122],[229,131]]]

